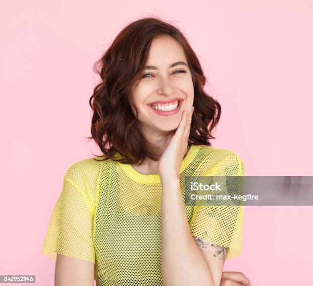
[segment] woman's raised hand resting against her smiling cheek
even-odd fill
[[[188,147],[191,118],[194,107],[189,114],[184,111],[180,125],[164,150],[158,163],[158,172],[161,178],[180,178],[180,169]]]

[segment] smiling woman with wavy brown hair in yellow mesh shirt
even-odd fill
[[[55,285],[219,285],[241,252],[242,206],[185,206],[185,177],[244,175],[244,165],[211,147],[221,107],[194,51],[173,25],[143,18],[95,71],[89,138],[102,155],[64,175],[41,251],[57,259]]]

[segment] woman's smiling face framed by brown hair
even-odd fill
[[[149,138],[178,127],[183,111],[193,104],[194,90],[184,50],[170,36],[152,40],[146,67],[132,96],[141,130]]]

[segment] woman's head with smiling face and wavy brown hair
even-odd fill
[[[120,152],[123,156],[116,160],[125,164],[158,161],[183,111],[191,106],[195,111],[188,145],[211,146],[221,107],[204,91],[206,77],[198,58],[176,27],[158,18],[129,24],[94,70],[101,82],[90,99],[94,110],[90,138],[107,158]],[[175,101],[177,108],[170,110]],[[156,143],[160,133],[166,140]]]

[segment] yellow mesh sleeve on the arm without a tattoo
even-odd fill
[[[95,262],[95,192],[83,165],[73,164],[66,171],[62,191],[52,212],[41,254],[54,260],[59,253]]]

